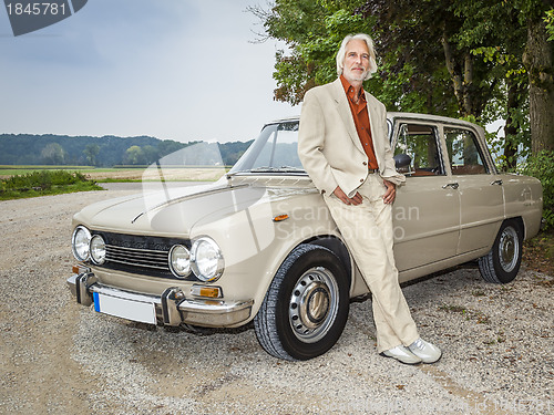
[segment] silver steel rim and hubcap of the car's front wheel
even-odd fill
[[[324,338],[332,326],[339,307],[338,284],[326,268],[315,267],[296,282],[288,317],[295,335],[307,343]]]

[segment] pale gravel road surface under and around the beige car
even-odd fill
[[[0,414],[554,413],[554,279],[525,269],[507,286],[468,267],[403,288],[444,351],[433,365],[376,353],[370,301],[300,363],[267,355],[250,328],[199,336],[78,305],[71,216],[134,191],[0,203]]]

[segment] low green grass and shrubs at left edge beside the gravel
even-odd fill
[[[0,180],[0,200],[89,190],[102,187],[78,172],[34,170]]]

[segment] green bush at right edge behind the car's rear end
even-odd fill
[[[531,156],[523,168],[527,176],[536,177],[543,185],[543,218],[546,229],[554,228],[554,152],[542,151]]]

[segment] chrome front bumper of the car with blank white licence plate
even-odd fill
[[[225,328],[239,325],[252,313],[254,300],[220,301],[204,299],[187,299],[177,288],[166,289],[162,295],[148,295],[126,290],[120,290],[100,283],[92,272],[73,274],[68,279],[68,286],[76,302],[83,305],[94,303],[100,310],[99,299],[106,303],[119,304],[110,308],[107,314],[121,317],[132,321],[156,323],[161,325],[192,324],[209,328]],[[152,317],[144,317],[144,310],[153,310]]]

